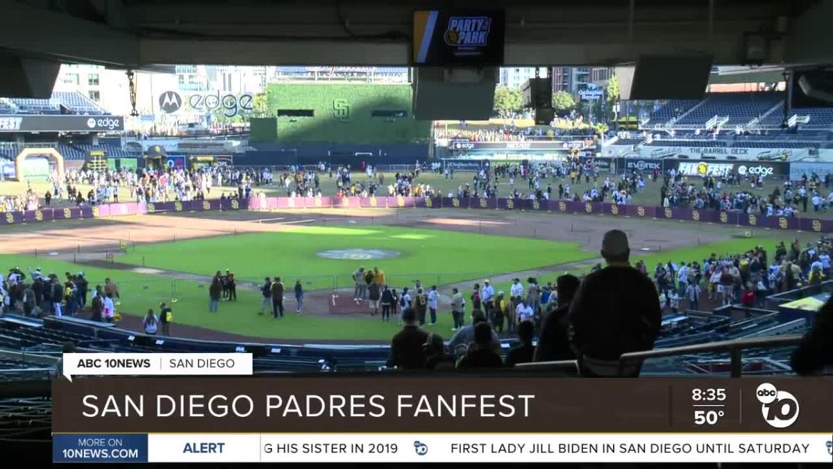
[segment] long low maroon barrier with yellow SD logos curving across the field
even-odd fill
[[[272,209],[493,209],[537,211],[546,214],[587,214],[613,217],[676,219],[698,223],[751,226],[765,229],[801,229],[816,233],[833,232],[833,219],[811,217],[766,217],[758,214],[700,210],[665,209],[651,205],[616,205],[601,202],[568,200],[482,199],[482,198],[413,198],[413,197],[269,197],[250,200],[195,200],[157,204],[106,204],[94,207],[39,209],[0,214],[0,225],[39,223],[58,219],[85,219],[129,214],[164,212],[199,212],[210,210],[272,210]]]

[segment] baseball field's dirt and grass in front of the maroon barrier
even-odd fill
[[[379,267],[401,290],[416,280],[440,292],[438,324],[451,335],[451,288],[466,298],[489,279],[508,290],[511,279],[554,281],[599,261],[601,235],[624,229],[634,258],[702,260],[756,245],[772,249],[784,232],[601,215],[536,214],[460,209],[307,209],[283,212],[147,214],[10,227],[0,233],[0,265],[46,273],[82,270],[91,285],[111,278],[121,292],[120,327],[142,330],[141,317],[159,303],[173,306],[174,335],[205,340],[390,340],[396,320],[370,315],[352,302],[351,274]],[[794,237],[793,233],[788,235]],[[796,234],[811,240],[810,234]],[[208,284],[217,270],[237,276],[237,300],[208,312]],[[287,286],[287,313],[259,315],[263,278]],[[305,291],[296,313],[292,287]]]

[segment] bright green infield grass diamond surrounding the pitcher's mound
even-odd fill
[[[384,260],[325,259],[325,250],[390,250]],[[535,269],[592,257],[576,243],[478,235],[392,226],[293,226],[281,233],[254,233],[138,245],[117,261],[213,275],[230,269],[241,279],[265,276],[302,279],[307,289],[352,286],[360,265],[379,267],[390,285],[448,284],[516,270]],[[431,283],[429,283],[431,282]],[[335,284],[335,285],[334,285]]]

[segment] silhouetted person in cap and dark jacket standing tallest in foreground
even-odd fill
[[[606,267],[581,282],[569,312],[571,342],[582,376],[616,376],[619,357],[651,350],[660,330],[656,287],[631,267],[627,236],[608,231],[601,241]],[[626,374],[638,376],[635,367]]]

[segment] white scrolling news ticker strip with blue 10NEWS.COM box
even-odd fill
[[[830,433],[56,434],[53,462],[826,462]]]

